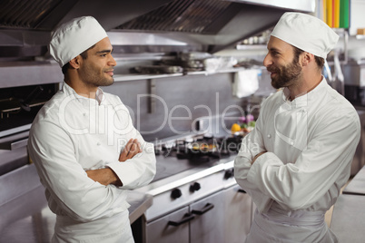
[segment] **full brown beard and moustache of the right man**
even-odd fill
[[[294,58],[293,61],[286,66],[268,66],[267,70],[271,73],[276,73],[276,76],[271,78],[271,86],[275,89],[297,84],[297,81],[301,77],[301,65],[299,64],[299,58]]]

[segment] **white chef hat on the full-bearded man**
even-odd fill
[[[281,16],[271,35],[324,59],[339,40],[339,35],[319,18],[291,12]]]

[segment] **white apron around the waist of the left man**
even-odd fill
[[[52,243],[74,242],[134,243],[128,210],[85,223],[57,216]]]

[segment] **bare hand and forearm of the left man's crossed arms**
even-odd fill
[[[142,152],[141,144],[136,139],[130,139],[125,145],[123,151],[119,155],[119,161],[132,159],[134,155]],[[106,186],[113,184],[115,186],[123,186],[123,182],[118,178],[115,172],[110,168],[98,169],[98,170],[86,170],[87,176]]]

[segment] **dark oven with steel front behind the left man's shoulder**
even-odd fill
[[[36,113],[58,90],[58,83],[0,89],[0,176],[29,163],[26,143]]]

